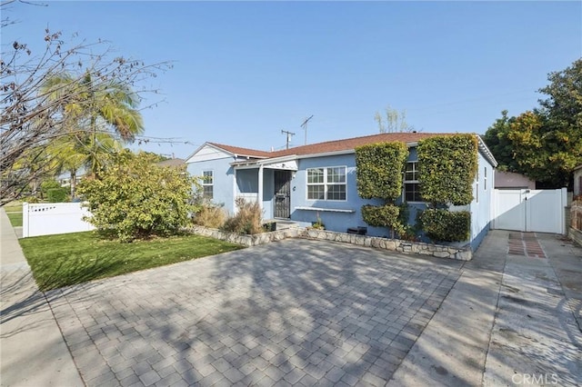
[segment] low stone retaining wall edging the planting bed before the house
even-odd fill
[[[286,238],[308,238],[322,241],[351,243],[365,247],[376,247],[398,253],[417,253],[459,261],[470,261],[471,258],[473,258],[470,248],[450,247],[433,243],[407,242],[399,239],[386,239],[375,236],[357,235],[354,233],[336,233],[316,229],[289,228],[271,233],[241,235],[237,233],[226,233],[220,230],[196,225],[188,228],[188,231],[230,243],[242,244],[244,246],[256,246],[273,241],[281,241]]]

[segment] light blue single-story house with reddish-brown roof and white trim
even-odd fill
[[[258,201],[264,218],[291,219],[301,223],[316,222],[319,216],[327,230],[346,232],[364,226],[372,236],[387,235],[387,230],[369,227],[362,220],[362,205],[381,204],[362,199],[356,187],[355,148],[364,144],[400,141],[408,145],[403,197],[410,204],[411,223],[416,209],[426,208],[416,180],[416,144],[427,137],[442,134],[394,133],[296,146],[277,152],[263,152],[224,144],[206,143],[186,158],[187,171],[202,177],[204,194],[215,203],[224,203],[236,212],[235,200]],[[477,248],[487,234],[492,213],[497,162],[487,145],[478,141],[478,173],[474,182],[474,200],[462,207],[471,212],[471,238]],[[402,201],[402,198],[401,198]]]

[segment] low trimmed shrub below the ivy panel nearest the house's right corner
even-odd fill
[[[418,216],[426,236],[435,242],[463,242],[470,236],[471,213],[428,209]]]

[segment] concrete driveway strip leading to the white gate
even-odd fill
[[[513,234],[488,233],[388,385],[582,385],[582,249]]]

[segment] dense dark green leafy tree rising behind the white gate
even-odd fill
[[[547,80],[539,107],[511,118],[502,113],[484,140],[502,169],[559,188],[582,164],[582,59]]]

